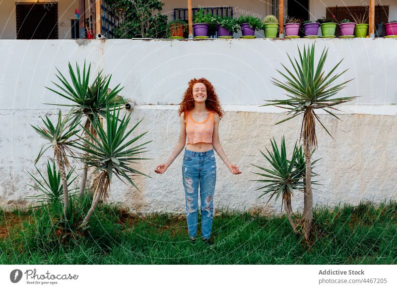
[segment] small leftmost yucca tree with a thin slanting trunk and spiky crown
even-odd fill
[[[61,174],[62,179],[62,187],[64,192],[64,214],[67,219],[67,208],[69,207],[69,193],[67,188],[67,177],[65,172],[65,167],[69,168],[70,164],[67,160],[66,151],[70,153],[70,155],[74,155],[73,150],[71,149],[70,145],[72,144],[71,138],[75,136],[80,129],[76,129],[77,125],[79,124],[76,118],[71,117],[72,111],[66,115],[64,119],[62,119],[61,110],[58,113],[58,121],[57,124],[54,126],[50,119],[46,116],[46,120],[41,118],[44,123],[45,127],[35,127],[32,126],[33,129],[45,140],[49,143],[44,144],[40,149],[40,152],[37,158],[34,161],[36,165],[39,161],[40,157],[43,153],[53,147],[54,149],[54,157],[58,163],[58,169]]]

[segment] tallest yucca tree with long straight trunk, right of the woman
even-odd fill
[[[333,98],[340,90],[342,90],[346,83],[350,80],[343,81],[339,84],[333,84],[333,82],[342,75],[345,71],[340,73],[332,73],[336,70],[343,59],[337,63],[337,65],[331,69],[329,73],[323,71],[324,64],[327,58],[328,49],[324,48],[320,60],[318,63],[315,62],[315,45],[311,47],[304,46],[303,53],[298,47],[299,61],[294,58],[294,61],[288,56],[291,63],[292,69],[288,70],[284,65],[282,67],[285,69],[286,73],[282,73],[277,70],[283,77],[284,81],[278,80],[272,77],[272,83],[282,89],[286,93],[286,99],[279,100],[266,100],[270,103],[262,105],[274,105],[280,108],[288,110],[287,115],[290,115],[286,119],[278,122],[282,123],[298,115],[303,114],[302,126],[301,126],[301,138],[303,138],[303,149],[306,162],[306,184],[305,184],[305,194],[304,194],[304,236],[306,240],[311,238],[311,228],[313,220],[313,193],[312,193],[312,183],[311,183],[311,151],[312,148],[317,148],[317,136],[316,136],[316,120],[319,121],[321,126],[326,130],[326,132],[331,136],[327,128],[320,121],[319,116],[316,114],[316,109],[322,109],[329,113],[331,116],[339,119],[331,110],[338,110],[334,106],[351,101],[357,96],[348,96]],[[317,67],[315,67],[317,65]],[[332,137],[332,136],[331,136]]]

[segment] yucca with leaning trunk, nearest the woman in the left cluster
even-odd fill
[[[138,154],[146,152],[147,150],[142,151],[142,149],[146,148],[142,146],[150,143],[151,141],[128,148],[131,144],[135,143],[147,133],[145,132],[134,137],[132,140],[127,141],[127,138],[143,119],[133,126],[132,129],[127,130],[131,119],[131,112],[128,113],[128,115],[126,114],[123,119],[119,118],[119,114],[120,109],[113,110],[112,114],[110,113],[109,108],[107,109],[105,118],[106,131],[98,124],[99,119],[94,115],[92,123],[93,128],[98,135],[98,139],[93,138],[91,133],[87,129],[83,128],[94,142],[91,143],[86,139],[81,139],[82,143],[79,142],[78,144],[73,144],[76,148],[86,152],[86,154],[82,154],[80,157],[81,160],[89,167],[95,167],[95,171],[100,172],[100,177],[94,184],[95,192],[92,205],[82,221],[82,226],[85,226],[88,223],[88,220],[97,207],[102,194],[106,194],[108,188],[110,188],[113,175],[118,177],[121,181],[123,181],[122,177],[128,180],[138,191],[139,189],[134,184],[131,175],[129,174],[141,174],[150,177],[129,166],[131,163],[137,163],[135,160],[150,159],[139,157]]]

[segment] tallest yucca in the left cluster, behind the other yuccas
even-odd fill
[[[61,84],[57,84],[53,82],[59,89],[52,89],[46,86],[46,88],[51,91],[61,95],[73,102],[73,104],[53,104],[53,105],[62,105],[71,107],[73,111],[73,115],[76,120],[80,121],[83,115],[86,116],[86,121],[84,124],[84,128],[91,132],[93,137],[96,137],[96,132],[92,128],[92,118],[94,115],[101,115],[102,117],[106,116],[106,108],[109,107],[111,110],[119,107],[120,105],[124,105],[126,103],[126,99],[122,96],[119,96],[118,93],[123,89],[123,87],[119,88],[120,84],[116,85],[115,88],[110,89],[110,79],[112,74],[103,76],[102,70],[98,72],[98,75],[94,79],[92,83],[90,83],[90,71],[91,64],[88,65],[88,69],[86,70],[86,65],[84,61],[83,71],[80,73],[80,68],[76,63],[76,70],[73,71],[73,68],[70,63],[68,63],[70,82],[66,79],[66,77],[57,69],[59,74],[56,74],[58,79],[61,81]],[[51,103],[47,103],[51,104]],[[89,139],[89,136],[84,131],[84,136],[86,140]],[[92,140],[91,140],[92,141]],[[84,165],[83,172],[81,175],[80,181],[80,195],[84,194],[85,184],[87,181],[87,172],[88,167]]]

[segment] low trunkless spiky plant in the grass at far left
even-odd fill
[[[61,181],[61,173],[57,170],[55,166],[55,162],[51,162],[47,160],[47,177],[44,177],[41,171],[35,166],[37,172],[39,173],[41,180],[33,176],[30,172],[29,175],[35,181],[34,185],[28,184],[33,189],[42,192],[40,195],[36,196],[27,196],[26,199],[35,199],[39,203],[47,203],[52,205],[54,203],[62,203],[63,197],[63,188]],[[78,177],[77,175],[72,177],[72,173],[74,169],[69,170],[66,175],[67,186],[74,182],[74,180]],[[69,196],[73,195],[76,192],[76,189],[69,190]],[[36,206],[32,208],[39,208],[41,206]]]

